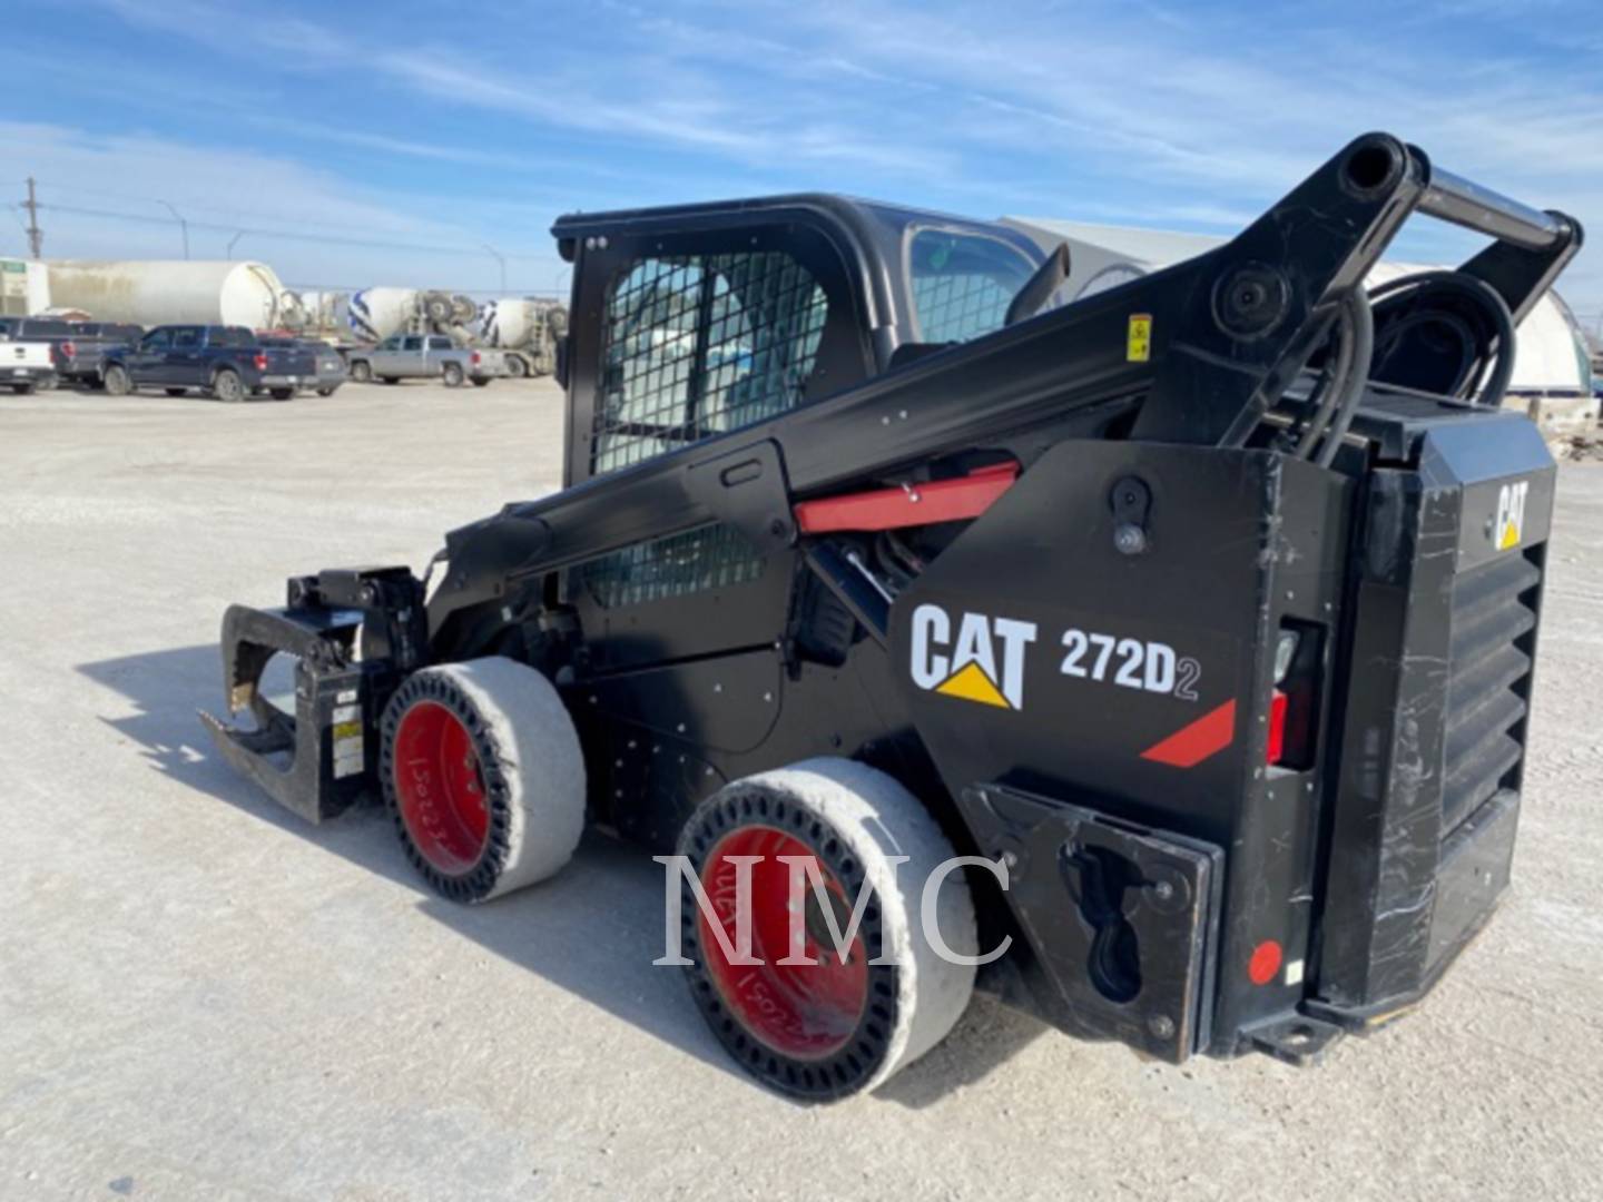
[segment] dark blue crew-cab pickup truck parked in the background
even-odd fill
[[[263,346],[242,325],[157,325],[133,346],[109,351],[103,377],[112,396],[160,388],[168,396],[200,389],[244,401],[264,389],[289,401],[316,383],[317,359],[300,346]]]

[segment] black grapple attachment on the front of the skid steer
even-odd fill
[[[274,801],[311,822],[348,809],[373,784],[378,716],[426,655],[423,583],[406,567],[290,577],[284,609],[229,606],[223,686],[229,716],[200,718],[223,758]],[[293,713],[261,678],[274,655],[295,660]]]

